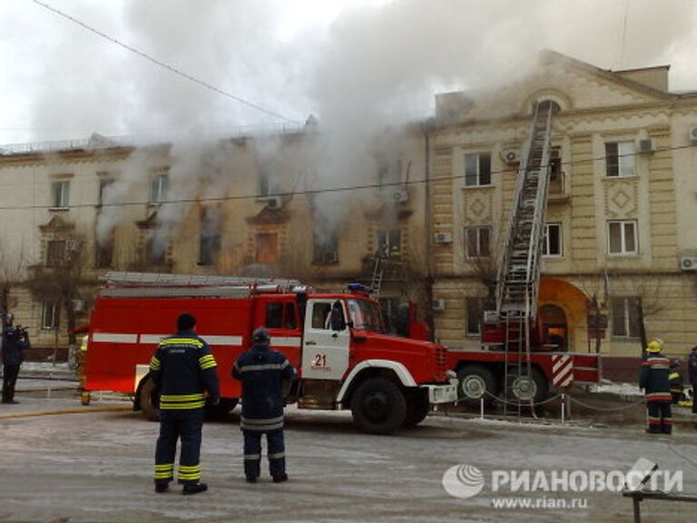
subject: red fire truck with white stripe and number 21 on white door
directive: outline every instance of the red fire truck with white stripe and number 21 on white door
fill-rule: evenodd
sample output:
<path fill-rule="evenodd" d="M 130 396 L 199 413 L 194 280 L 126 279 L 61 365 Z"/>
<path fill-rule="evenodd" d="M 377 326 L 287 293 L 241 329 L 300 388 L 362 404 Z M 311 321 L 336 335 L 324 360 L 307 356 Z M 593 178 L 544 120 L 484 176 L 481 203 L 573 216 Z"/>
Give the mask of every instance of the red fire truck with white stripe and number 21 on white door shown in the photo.
<path fill-rule="evenodd" d="M 301 409 L 350 409 L 358 429 L 388 434 L 456 400 L 447 350 L 386 334 L 378 302 L 358 286 L 317 294 L 298 281 L 134 272 L 104 281 L 90 321 L 84 389 L 133 394 L 147 417 L 157 416 L 148 363 L 184 311 L 197 318 L 196 331 L 218 362 L 219 410 L 229 412 L 241 396 L 231 367 L 259 326 L 298 369 L 288 401 Z"/>

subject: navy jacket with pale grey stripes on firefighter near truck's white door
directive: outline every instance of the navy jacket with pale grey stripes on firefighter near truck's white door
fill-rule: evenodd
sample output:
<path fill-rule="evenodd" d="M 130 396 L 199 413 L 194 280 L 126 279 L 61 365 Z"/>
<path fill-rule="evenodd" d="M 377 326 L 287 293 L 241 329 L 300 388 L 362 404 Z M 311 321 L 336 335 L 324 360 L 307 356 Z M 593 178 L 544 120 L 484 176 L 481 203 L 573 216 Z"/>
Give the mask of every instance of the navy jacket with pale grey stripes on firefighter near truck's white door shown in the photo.
<path fill-rule="evenodd" d="M 242 382 L 241 429 L 270 431 L 283 428 L 281 381 L 292 380 L 295 369 L 268 343 L 242 352 L 232 367 L 232 377 Z"/>

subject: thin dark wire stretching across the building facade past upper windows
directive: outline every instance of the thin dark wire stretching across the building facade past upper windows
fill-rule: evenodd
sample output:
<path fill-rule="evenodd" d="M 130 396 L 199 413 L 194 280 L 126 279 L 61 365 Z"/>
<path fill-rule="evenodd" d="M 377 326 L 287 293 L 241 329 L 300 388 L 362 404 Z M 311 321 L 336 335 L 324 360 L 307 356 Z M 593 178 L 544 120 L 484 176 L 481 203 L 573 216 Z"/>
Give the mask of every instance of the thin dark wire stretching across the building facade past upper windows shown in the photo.
<path fill-rule="evenodd" d="M 697 148 L 697 143 L 695 144 L 690 144 L 690 145 L 675 145 L 672 147 L 659 147 L 656 148 L 654 153 L 661 153 L 661 152 L 666 152 L 666 151 L 680 151 L 683 149 L 693 149 Z M 613 155 L 612 158 L 623 158 L 623 157 L 628 157 L 628 156 L 638 156 L 641 153 L 626 153 L 626 154 L 616 154 Z M 0 155 L 0 158 L 2 158 L 2 155 Z M 574 160 L 573 162 L 562 162 L 562 165 L 579 165 L 579 164 L 584 164 L 584 163 L 594 163 L 598 161 L 602 161 L 607 159 L 608 156 L 596 156 L 594 158 L 589 158 L 587 160 Z M 540 169 L 543 169 L 547 166 L 543 165 L 540 167 Z M 491 171 L 491 174 L 504 174 L 504 173 L 513 173 L 514 170 L 512 169 L 505 169 L 502 171 Z M 315 196 L 318 194 L 324 194 L 324 193 L 331 193 L 331 192 L 350 192 L 350 191 L 363 191 L 367 189 L 386 189 L 388 187 L 405 187 L 407 185 L 420 185 L 423 183 L 437 183 L 437 182 L 447 182 L 447 181 L 453 181 L 453 180 L 461 180 L 463 178 L 466 178 L 466 174 L 454 174 L 452 176 L 438 176 L 437 178 L 430 178 L 429 180 L 409 180 L 407 182 L 389 182 L 389 183 L 362 183 L 358 185 L 344 185 L 344 186 L 339 186 L 339 187 L 326 187 L 323 189 L 306 189 L 304 191 L 290 191 L 290 192 L 274 192 L 270 194 L 260 194 L 260 193 L 255 193 L 255 194 L 234 194 L 234 195 L 227 195 L 227 196 L 215 196 L 215 197 L 207 197 L 207 198 L 198 198 L 198 197 L 192 197 L 192 198 L 177 198 L 177 199 L 172 199 L 172 200 L 163 200 L 161 202 L 106 202 L 106 203 L 76 203 L 73 205 L 68 205 L 67 208 L 69 209 L 80 209 L 80 208 L 85 208 L 85 207 L 99 207 L 99 208 L 107 208 L 107 207 L 126 207 L 126 206 L 133 206 L 133 205 L 147 205 L 147 204 L 152 204 L 152 205 L 165 205 L 168 203 L 196 203 L 196 202 L 231 202 L 231 201 L 240 201 L 240 200 L 268 200 L 269 198 L 273 197 L 292 197 L 292 196 L 299 196 L 299 195 L 307 195 L 307 196 Z M 616 176 L 618 179 L 622 179 L 622 176 Z M 476 185 L 473 185 L 472 187 L 477 187 Z M 486 187 L 486 185 L 484 185 Z M 33 204 L 33 205 L 0 205 L 0 211 L 26 211 L 26 210 L 31 210 L 31 209 L 55 209 L 55 205 L 47 205 L 47 204 Z"/>

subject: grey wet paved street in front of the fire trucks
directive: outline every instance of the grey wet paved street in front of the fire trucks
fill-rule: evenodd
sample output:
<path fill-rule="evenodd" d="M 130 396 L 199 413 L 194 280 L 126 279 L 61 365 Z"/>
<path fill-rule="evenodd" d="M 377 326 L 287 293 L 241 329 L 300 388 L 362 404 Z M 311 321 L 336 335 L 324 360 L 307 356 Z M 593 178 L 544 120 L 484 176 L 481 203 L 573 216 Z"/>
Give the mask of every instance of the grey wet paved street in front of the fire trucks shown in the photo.
<path fill-rule="evenodd" d="M 93 402 L 91 408 L 127 409 Z M 637 429 L 530 427 L 501 421 L 431 417 L 393 437 L 358 434 L 345 413 L 290 410 L 291 480 L 243 481 L 237 416 L 204 427 L 202 468 L 211 490 L 183 497 L 179 488 L 152 492 L 158 425 L 129 410 L 6 418 L 22 412 L 80 409 L 75 400 L 24 399 L 0 409 L 1 521 L 631 521 L 631 502 L 616 493 L 583 493 L 584 509 L 497 509 L 487 483 L 474 498 L 442 486 L 444 472 L 474 465 L 494 469 L 626 470 L 639 457 L 682 469 L 697 492 L 697 433 L 672 439 Z M 671 447 L 672 445 L 672 447 Z M 508 494 L 510 492 L 503 492 Z M 526 493 L 523 493 L 524 495 Z M 568 494 L 532 493 L 529 498 Z M 643 503 L 644 520 L 693 521 L 689 505 Z M 669 516 L 659 516 L 659 510 Z"/>

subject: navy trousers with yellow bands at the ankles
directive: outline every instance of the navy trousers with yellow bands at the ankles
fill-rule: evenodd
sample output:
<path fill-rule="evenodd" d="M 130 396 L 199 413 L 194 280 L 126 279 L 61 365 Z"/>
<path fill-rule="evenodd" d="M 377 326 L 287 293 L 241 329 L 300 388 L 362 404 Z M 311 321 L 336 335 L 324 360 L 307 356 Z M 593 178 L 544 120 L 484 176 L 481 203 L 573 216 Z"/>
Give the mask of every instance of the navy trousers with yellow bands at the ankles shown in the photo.
<path fill-rule="evenodd" d="M 182 439 L 179 456 L 179 483 L 201 480 L 201 426 L 203 409 L 161 410 L 160 437 L 155 448 L 155 483 L 169 483 L 174 477 L 177 439 Z"/>

